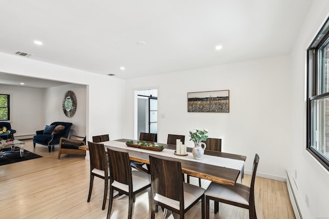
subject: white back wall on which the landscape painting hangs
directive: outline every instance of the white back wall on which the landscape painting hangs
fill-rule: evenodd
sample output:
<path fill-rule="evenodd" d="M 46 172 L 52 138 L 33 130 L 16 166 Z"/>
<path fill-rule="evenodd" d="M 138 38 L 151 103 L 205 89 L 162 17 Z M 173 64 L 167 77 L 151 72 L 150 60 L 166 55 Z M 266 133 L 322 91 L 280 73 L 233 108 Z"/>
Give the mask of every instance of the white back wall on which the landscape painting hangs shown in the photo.
<path fill-rule="evenodd" d="M 224 152 L 247 155 L 246 173 L 258 153 L 259 175 L 284 180 L 290 145 L 289 60 L 287 55 L 127 80 L 125 137 L 133 137 L 134 90 L 158 88 L 158 142 L 167 142 L 168 134 L 184 134 L 192 147 L 189 130 L 207 128 L 209 137 L 222 138 Z M 230 90 L 229 113 L 187 112 L 188 92 L 213 90 Z"/>

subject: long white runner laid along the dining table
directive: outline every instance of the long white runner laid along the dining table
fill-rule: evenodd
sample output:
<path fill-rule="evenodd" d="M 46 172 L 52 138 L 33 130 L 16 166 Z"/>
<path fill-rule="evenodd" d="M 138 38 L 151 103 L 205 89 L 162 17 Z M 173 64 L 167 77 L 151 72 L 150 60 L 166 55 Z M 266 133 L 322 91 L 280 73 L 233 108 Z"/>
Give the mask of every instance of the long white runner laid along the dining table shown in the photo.
<path fill-rule="evenodd" d="M 128 147 L 124 142 L 108 141 L 108 142 L 102 142 L 102 144 L 104 144 L 105 146 L 111 146 L 111 147 L 124 148 L 124 149 L 129 149 L 129 150 L 134 150 L 134 151 L 145 152 L 145 149 Z M 193 158 L 193 155 L 191 152 L 188 152 L 187 156 L 177 156 L 174 154 L 174 150 L 167 149 L 167 148 L 163 149 L 162 151 L 147 150 L 147 153 L 158 154 L 161 156 L 168 156 L 168 157 L 176 157 L 181 160 L 199 162 L 199 163 L 204 163 L 204 164 L 210 164 L 210 165 L 240 170 L 241 179 L 243 178 L 243 175 L 244 175 L 245 162 L 240 161 L 240 160 L 235 160 L 235 159 L 225 158 L 225 157 L 220 157 L 220 156 L 211 156 L 211 155 L 206 155 L 206 154 L 203 156 L 203 158 L 201 160 L 195 160 Z"/>

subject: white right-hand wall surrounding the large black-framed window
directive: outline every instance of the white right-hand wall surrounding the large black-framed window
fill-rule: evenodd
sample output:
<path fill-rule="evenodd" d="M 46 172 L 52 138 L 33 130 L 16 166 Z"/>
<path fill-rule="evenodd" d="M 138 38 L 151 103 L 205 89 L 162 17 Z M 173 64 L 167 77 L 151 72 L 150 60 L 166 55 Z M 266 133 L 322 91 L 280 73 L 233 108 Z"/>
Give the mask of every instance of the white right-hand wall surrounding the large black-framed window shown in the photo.
<path fill-rule="evenodd" d="M 329 218 L 329 172 L 306 151 L 306 49 L 329 11 L 328 1 L 313 1 L 291 53 L 291 165 L 287 168 L 298 190 L 295 194 L 304 218 Z M 295 177 L 297 171 L 297 178 Z M 305 195 L 309 197 L 309 207 Z"/>

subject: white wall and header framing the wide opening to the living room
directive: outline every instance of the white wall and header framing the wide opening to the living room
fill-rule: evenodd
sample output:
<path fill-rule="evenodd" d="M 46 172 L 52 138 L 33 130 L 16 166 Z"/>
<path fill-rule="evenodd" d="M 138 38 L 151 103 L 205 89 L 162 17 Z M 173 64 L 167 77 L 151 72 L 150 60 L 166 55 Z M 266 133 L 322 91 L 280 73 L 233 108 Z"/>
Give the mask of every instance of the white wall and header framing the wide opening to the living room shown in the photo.
<path fill-rule="evenodd" d="M 5 53 L 0 53 L 0 60 L 0 72 L 87 85 L 87 139 L 92 140 L 93 135 L 102 133 L 109 133 L 111 139 L 122 137 L 124 80 Z"/>

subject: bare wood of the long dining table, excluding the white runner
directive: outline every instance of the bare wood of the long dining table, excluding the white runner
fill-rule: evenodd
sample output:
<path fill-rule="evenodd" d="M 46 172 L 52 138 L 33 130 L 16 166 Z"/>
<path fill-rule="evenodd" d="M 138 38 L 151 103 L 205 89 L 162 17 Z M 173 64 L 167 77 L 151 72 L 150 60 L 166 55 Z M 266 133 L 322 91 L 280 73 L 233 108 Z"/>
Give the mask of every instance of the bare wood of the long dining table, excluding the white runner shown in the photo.
<path fill-rule="evenodd" d="M 123 142 L 123 143 L 125 143 L 127 141 L 136 142 L 136 140 L 130 140 L 130 139 L 126 139 L 126 138 L 122 138 L 122 139 L 114 140 L 114 141 Z M 105 149 L 110 148 L 110 149 L 114 149 L 114 150 L 128 152 L 131 161 L 150 164 L 149 155 L 165 158 L 168 160 L 180 161 L 182 173 L 186 173 L 191 176 L 196 176 L 199 178 L 204 178 L 205 180 L 209 180 L 209 181 L 212 181 L 215 183 L 234 186 L 237 178 L 240 175 L 240 170 L 238 170 L 238 169 L 231 169 L 231 168 L 227 168 L 227 167 L 223 167 L 223 166 L 205 164 L 205 163 L 194 162 L 194 161 L 189 161 L 189 160 L 183 160 L 179 156 L 174 155 L 174 153 L 173 153 L 172 157 L 168 157 L 168 156 L 161 156 L 161 152 L 159 152 L 157 154 L 151 154 L 151 153 L 148 153 L 149 152 L 148 150 L 136 151 L 136 150 L 132 150 L 130 147 L 124 147 L 124 148 L 113 147 L 113 146 L 111 146 L 111 142 L 112 141 L 102 142 L 102 144 L 104 144 Z M 162 143 L 155 143 L 155 144 L 161 145 L 166 149 L 170 149 L 173 151 L 176 150 L 176 145 L 169 145 L 169 144 L 162 144 Z M 81 146 L 80 149 L 88 150 L 88 146 Z M 192 148 L 188 147 L 187 152 L 191 152 L 191 151 L 192 151 Z M 205 150 L 205 154 L 215 156 L 215 157 L 230 158 L 233 160 L 238 160 L 238 161 L 243 161 L 243 162 L 245 162 L 245 160 L 246 160 L 246 156 L 243 156 L 243 155 L 224 153 L 224 152 L 218 152 L 218 151 Z"/>

